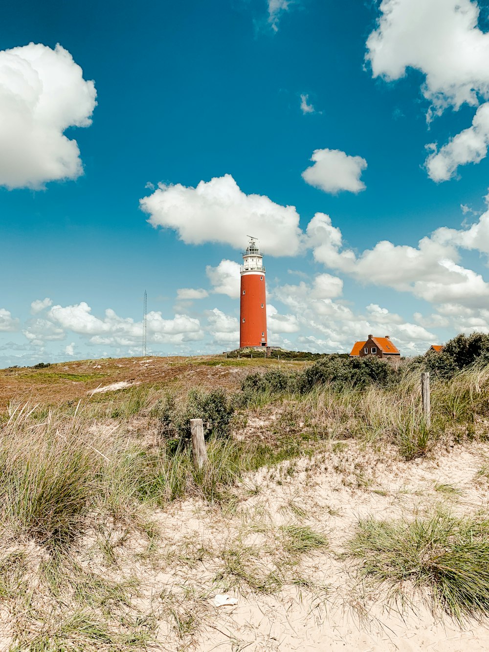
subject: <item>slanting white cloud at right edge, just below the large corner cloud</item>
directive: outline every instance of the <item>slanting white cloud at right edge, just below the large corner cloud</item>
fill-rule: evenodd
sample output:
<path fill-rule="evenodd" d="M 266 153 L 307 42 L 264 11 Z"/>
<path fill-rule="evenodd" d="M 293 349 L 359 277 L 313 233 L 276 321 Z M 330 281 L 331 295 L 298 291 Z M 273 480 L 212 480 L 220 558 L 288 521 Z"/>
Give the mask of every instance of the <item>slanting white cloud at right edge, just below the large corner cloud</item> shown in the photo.
<path fill-rule="evenodd" d="M 489 61 L 488 61 L 489 65 Z M 489 102 L 482 104 L 472 121 L 472 126 L 460 132 L 426 159 L 428 176 L 433 181 L 447 181 L 459 165 L 479 163 L 487 156 L 489 145 Z M 436 147 L 436 145 L 435 145 Z"/>

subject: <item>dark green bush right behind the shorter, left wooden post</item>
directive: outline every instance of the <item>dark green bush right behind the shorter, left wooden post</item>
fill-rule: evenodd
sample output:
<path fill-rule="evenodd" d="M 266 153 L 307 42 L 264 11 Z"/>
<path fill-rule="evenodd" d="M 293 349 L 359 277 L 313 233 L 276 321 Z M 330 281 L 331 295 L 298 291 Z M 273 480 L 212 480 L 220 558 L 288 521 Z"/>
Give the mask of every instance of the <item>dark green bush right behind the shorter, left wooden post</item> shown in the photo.
<path fill-rule="evenodd" d="M 160 433 L 168 441 L 172 451 L 190 443 L 190 419 L 202 419 L 205 439 L 211 434 L 227 437 L 233 416 L 233 405 L 222 389 L 201 392 L 192 389 L 186 400 L 177 404 L 174 396 L 166 396 L 156 406 L 160 421 Z"/>

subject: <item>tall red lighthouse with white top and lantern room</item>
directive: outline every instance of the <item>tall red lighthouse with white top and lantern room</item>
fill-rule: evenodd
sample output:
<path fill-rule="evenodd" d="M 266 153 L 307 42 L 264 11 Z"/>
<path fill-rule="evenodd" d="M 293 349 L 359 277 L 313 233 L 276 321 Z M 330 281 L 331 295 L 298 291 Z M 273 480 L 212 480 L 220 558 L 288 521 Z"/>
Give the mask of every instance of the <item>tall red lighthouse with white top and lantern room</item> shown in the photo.
<path fill-rule="evenodd" d="M 265 301 L 265 267 L 256 238 L 243 252 L 241 265 L 241 310 L 239 346 L 267 346 L 267 305 Z"/>

